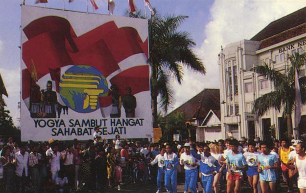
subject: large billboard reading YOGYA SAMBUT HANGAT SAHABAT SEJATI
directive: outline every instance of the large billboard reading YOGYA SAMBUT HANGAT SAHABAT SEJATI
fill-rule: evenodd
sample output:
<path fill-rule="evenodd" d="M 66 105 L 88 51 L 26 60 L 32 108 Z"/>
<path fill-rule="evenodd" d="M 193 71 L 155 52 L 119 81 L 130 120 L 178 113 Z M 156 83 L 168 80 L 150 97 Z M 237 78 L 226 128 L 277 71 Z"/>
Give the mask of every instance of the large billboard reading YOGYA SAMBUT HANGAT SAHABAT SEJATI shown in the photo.
<path fill-rule="evenodd" d="M 22 6 L 23 141 L 153 137 L 147 21 Z"/>

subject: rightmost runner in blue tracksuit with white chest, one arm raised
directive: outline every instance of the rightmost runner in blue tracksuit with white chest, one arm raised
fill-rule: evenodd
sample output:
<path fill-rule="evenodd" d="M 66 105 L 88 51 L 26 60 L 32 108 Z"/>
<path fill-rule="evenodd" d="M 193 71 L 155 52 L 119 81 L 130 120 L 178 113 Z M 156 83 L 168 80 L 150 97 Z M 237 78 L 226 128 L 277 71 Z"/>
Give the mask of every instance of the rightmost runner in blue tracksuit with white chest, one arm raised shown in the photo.
<path fill-rule="evenodd" d="M 212 193 L 212 183 L 214 175 L 219 172 L 220 165 L 218 160 L 212 157 L 210 153 L 210 148 L 207 145 L 203 145 L 203 151 L 197 154 L 193 149 L 191 149 L 191 155 L 196 159 L 200 159 L 200 172 L 202 174 L 202 184 L 205 193 Z"/>

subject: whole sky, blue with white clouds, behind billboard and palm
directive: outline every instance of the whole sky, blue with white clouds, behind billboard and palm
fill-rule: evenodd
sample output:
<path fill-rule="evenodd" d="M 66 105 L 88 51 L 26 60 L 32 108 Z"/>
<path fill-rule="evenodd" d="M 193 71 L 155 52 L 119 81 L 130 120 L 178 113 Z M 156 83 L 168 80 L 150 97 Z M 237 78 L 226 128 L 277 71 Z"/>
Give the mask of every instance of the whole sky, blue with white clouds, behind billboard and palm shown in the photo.
<path fill-rule="evenodd" d="M 21 1 L 3 0 L 0 4 L 0 74 L 8 92 L 3 96 L 15 125 L 18 125 L 20 101 L 21 63 Z M 63 9 L 63 0 L 48 0 L 46 7 Z M 87 11 L 87 0 L 65 0 L 65 9 Z M 95 0 L 99 9 L 94 13 L 109 14 L 108 0 Z M 114 15 L 123 16 L 128 9 L 127 0 L 114 0 Z M 144 0 L 134 0 L 144 12 Z M 26 5 L 35 0 L 25 0 Z M 179 85 L 175 79 L 171 86 L 175 101 L 169 112 L 181 106 L 205 88 L 219 88 L 218 53 L 226 46 L 240 40 L 249 40 L 270 22 L 282 18 L 306 6 L 305 0 L 150 0 L 162 16 L 185 15 L 188 19 L 179 30 L 187 31 L 196 43 L 192 49 L 206 67 L 206 75 L 184 69 L 184 80 Z M 90 4 L 89 4 L 90 5 Z M 89 12 L 93 12 L 91 6 Z M 147 15 L 149 10 L 147 9 Z M 148 16 L 149 17 L 149 16 Z"/>

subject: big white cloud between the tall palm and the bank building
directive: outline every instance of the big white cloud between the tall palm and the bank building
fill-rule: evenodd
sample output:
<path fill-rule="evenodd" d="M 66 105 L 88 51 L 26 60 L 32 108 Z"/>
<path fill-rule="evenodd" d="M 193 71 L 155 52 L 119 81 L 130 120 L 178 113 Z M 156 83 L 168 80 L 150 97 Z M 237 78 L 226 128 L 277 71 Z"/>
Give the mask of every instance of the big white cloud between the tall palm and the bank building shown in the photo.
<path fill-rule="evenodd" d="M 270 22 L 280 19 L 302 7 L 305 1 L 233 1 L 216 0 L 211 7 L 212 20 L 205 26 L 206 39 L 194 52 L 203 60 L 205 76 L 185 71 L 181 86 L 173 83 L 176 102 L 179 107 L 204 88 L 219 87 L 218 53 L 221 45 L 226 46 L 244 39 L 251 39 Z M 192 33 L 192 32 L 191 32 Z"/>

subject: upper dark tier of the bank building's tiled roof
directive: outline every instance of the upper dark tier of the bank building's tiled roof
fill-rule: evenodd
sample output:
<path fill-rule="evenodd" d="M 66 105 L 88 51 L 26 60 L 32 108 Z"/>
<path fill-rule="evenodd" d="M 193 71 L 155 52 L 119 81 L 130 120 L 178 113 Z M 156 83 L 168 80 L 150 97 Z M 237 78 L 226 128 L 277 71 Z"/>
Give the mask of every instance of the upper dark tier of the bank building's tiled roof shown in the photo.
<path fill-rule="evenodd" d="M 267 38 L 280 34 L 286 30 L 297 27 L 304 23 L 306 23 L 306 7 L 287 16 L 284 16 L 279 20 L 271 22 L 251 40 L 263 41 Z"/>

